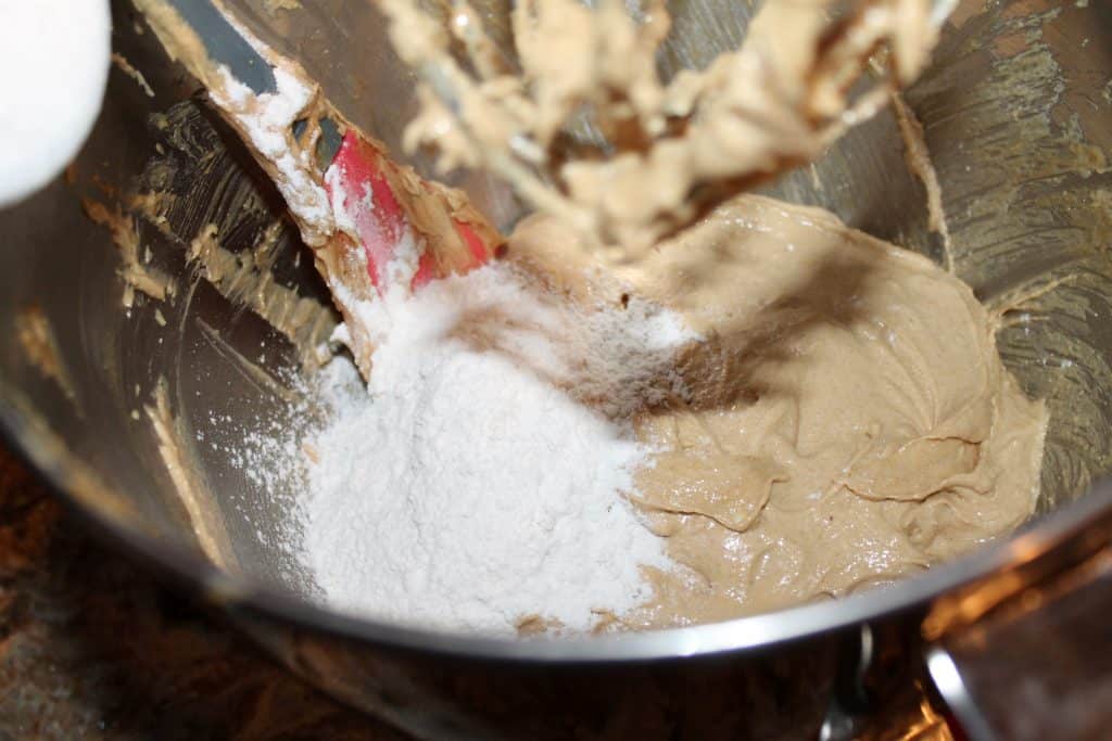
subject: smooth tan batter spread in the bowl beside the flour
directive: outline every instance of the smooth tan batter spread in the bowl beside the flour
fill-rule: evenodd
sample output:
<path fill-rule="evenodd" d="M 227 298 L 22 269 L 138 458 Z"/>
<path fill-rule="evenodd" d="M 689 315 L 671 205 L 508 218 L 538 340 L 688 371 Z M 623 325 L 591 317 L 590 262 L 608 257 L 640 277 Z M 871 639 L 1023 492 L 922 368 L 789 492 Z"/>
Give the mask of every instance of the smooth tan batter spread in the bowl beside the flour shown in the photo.
<path fill-rule="evenodd" d="M 703 336 L 683 390 L 635 417 L 633 500 L 684 568 L 627 628 L 707 622 L 892 581 L 1033 511 L 1046 412 L 996 352 L 999 317 L 929 260 L 832 214 L 745 196 L 600 278 L 534 218 L 512 259 L 580 301 L 631 294 Z"/>

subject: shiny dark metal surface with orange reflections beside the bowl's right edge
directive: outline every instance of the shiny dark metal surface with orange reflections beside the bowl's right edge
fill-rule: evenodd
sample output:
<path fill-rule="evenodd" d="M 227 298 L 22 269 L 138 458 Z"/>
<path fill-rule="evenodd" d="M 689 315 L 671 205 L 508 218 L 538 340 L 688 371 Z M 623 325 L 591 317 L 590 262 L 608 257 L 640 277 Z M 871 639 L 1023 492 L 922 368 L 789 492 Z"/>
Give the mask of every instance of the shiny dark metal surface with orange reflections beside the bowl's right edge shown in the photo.
<path fill-rule="evenodd" d="M 1094 512 L 1052 558 L 1019 559 L 935 600 L 926 671 L 972 741 L 1103 738 L 1110 609 L 1112 518 Z"/>

